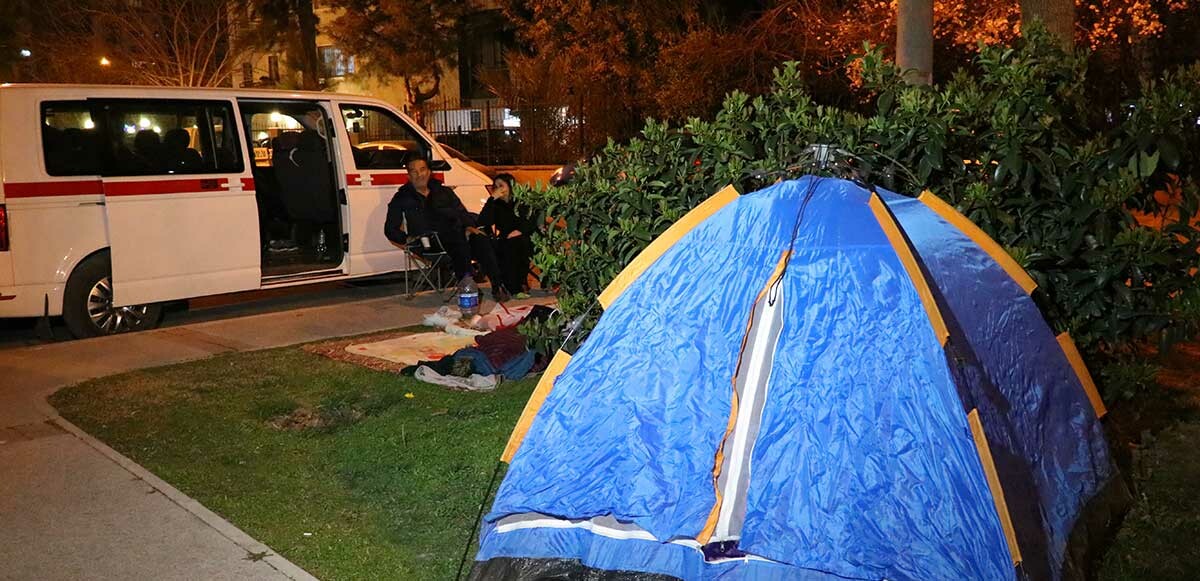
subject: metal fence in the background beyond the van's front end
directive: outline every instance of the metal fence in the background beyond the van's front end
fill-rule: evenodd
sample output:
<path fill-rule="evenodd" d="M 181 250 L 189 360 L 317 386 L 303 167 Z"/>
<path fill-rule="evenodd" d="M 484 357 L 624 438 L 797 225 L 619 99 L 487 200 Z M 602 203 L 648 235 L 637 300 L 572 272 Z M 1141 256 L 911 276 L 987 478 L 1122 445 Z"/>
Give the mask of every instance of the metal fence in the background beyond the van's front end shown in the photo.
<path fill-rule="evenodd" d="M 433 101 L 419 109 L 419 119 L 439 143 L 490 166 L 562 164 L 586 157 L 595 145 L 582 103 Z"/>

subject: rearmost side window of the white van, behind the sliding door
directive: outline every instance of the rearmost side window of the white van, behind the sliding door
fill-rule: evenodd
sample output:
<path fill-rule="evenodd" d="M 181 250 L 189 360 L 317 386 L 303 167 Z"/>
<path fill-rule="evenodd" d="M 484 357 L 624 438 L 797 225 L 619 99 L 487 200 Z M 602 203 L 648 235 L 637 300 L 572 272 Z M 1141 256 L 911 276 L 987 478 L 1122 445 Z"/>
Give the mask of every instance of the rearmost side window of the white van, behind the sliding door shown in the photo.
<path fill-rule="evenodd" d="M 42 103 L 42 158 L 47 174 L 100 174 L 96 136 L 86 101 Z"/>

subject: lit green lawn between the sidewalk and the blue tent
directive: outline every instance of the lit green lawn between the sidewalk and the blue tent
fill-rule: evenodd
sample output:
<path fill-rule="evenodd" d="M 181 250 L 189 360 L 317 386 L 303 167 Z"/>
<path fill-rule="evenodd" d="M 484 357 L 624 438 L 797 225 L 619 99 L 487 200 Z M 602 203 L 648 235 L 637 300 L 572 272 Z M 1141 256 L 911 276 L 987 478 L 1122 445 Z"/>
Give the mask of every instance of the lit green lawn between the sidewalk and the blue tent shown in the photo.
<path fill-rule="evenodd" d="M 534 384 L 455 393 L 283 348 L 96 379 L 52 403 L 318 577 L 451 579 Z M 298 408 L 323 423 L 271 425 Z"/>

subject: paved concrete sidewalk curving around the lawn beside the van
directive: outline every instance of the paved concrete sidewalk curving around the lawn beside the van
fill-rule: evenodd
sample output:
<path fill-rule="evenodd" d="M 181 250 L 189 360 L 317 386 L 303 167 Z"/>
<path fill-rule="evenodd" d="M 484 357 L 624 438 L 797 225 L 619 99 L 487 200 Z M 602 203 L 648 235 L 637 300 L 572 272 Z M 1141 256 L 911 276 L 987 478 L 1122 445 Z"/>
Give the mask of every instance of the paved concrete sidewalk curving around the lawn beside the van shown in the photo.
<path fill-rule="evenodd" d="M 0 580 L 313 579 L 46 397 L 131 370 L 419 324 L 442 303 L 389 297 L 0 351 Z"/>

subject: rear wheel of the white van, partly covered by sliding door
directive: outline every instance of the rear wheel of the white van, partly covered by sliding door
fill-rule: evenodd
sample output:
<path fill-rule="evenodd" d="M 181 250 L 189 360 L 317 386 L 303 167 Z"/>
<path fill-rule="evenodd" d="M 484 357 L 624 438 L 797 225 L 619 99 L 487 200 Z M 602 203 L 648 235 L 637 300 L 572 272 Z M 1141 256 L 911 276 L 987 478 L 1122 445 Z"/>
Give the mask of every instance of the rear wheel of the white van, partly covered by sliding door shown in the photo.
<path fill-rule="evenodd" d="M 113 306 L 113 263 L 108 252 L 88 258 L 67 280 L 62 319 L 76 339 L 158 327 L 162 305 Z"/>

